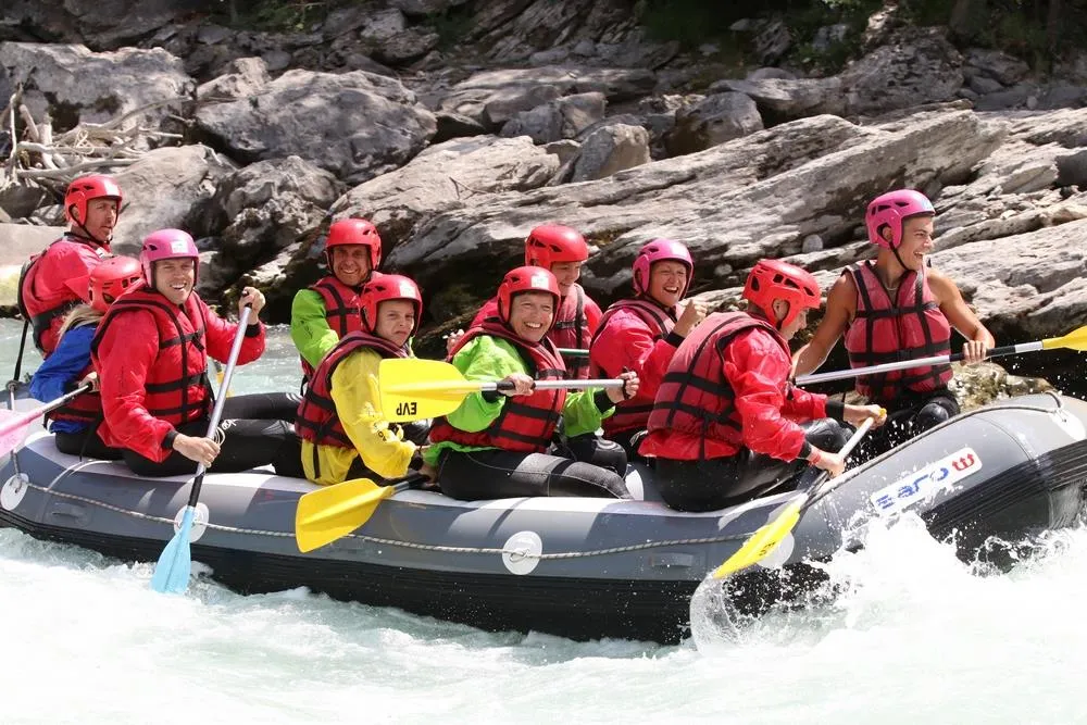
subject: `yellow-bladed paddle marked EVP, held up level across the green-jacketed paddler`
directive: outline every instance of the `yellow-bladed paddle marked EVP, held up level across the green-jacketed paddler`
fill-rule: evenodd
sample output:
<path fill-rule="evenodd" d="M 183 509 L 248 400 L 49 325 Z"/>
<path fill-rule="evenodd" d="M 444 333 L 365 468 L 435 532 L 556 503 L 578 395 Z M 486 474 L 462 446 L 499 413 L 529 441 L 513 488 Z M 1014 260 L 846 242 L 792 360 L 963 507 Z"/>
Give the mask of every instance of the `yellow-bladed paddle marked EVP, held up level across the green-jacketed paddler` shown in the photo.
<path fill-rule="evenodd" d="M 390 423 L 452 413 L 464 397 L 485 390 L 512 390 L 509 380 L 468 380 L 451 363 L 418 358 L 388 358 L 378 367 L 382 415 Z M 538 390 L 619 388 L 625 380 L 539 380 Z"/>

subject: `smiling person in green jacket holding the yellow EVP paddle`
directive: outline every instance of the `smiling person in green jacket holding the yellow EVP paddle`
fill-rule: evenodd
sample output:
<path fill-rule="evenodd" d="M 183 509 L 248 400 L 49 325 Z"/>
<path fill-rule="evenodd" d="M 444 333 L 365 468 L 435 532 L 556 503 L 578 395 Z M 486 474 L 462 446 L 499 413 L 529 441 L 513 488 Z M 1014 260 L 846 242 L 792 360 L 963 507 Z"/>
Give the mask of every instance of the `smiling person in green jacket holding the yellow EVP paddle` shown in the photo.
<path fill-rule="evenodd" d="M 554 275 L 523 266 L 498 288 L 498 318 L 471 328 L 452 363 L 472 380 L 503 379 L 511 389 L 474 392 L 438 418 L 423 454 L 447 496 L 462 500 L 521 496 L 594 496 L 626 499 L 626 452 L 589 438 L 573 458 L 551 446 L 559 418 L 570 437 L 600 427 L 615 403 L 633 397 L 638 376 L 624 373 L 622 388 L 538 390 L 536 380 L 563 379 L 565 365 L 547 333 L 561 296 Z"/>

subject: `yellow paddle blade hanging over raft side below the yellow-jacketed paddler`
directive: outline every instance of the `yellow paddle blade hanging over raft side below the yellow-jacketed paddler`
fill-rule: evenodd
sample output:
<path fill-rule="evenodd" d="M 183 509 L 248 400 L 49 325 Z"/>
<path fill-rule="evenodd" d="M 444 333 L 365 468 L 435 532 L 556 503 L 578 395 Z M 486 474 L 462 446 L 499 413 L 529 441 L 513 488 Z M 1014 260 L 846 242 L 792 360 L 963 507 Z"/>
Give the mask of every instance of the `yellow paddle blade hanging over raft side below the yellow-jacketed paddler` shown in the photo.
<path fill-rule="evenodd" d="M 370 521 L 382 501 L 426 480 L 426 476 L 413 471 L 385 485 L 370 478 L 352 478 L 305 493 L 298 500 L 295 511 L 298 550 L 313 551 L 347 536 Z"/>

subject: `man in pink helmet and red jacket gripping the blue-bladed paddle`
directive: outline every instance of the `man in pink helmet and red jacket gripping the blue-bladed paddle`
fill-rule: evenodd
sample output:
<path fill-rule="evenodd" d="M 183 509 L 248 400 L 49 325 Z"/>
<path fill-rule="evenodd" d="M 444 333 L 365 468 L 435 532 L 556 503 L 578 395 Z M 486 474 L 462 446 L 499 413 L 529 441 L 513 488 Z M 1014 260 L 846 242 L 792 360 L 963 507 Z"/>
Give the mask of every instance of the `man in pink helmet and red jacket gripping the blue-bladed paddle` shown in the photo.
<path fill-rule="evenodd" d="M 212 409 L 208 357 L 226 361 L 237 324 L 211 311 L 193 291 L 200 255 L 187 233 L 160 229 L 143 239 L 141 279 L 110 307 L 91 342 L 104 421 L 99 435 L 141 476 L 245 471 L 274 463 L 300 475 L 293 429 L 298 401 L 286 393 L 234 396 L 223 409 L 222 435 L 207 437 Z M 258 314 L 264 296 L 242 290 L 252 307 L 238 364 L 264 351 Z"/>

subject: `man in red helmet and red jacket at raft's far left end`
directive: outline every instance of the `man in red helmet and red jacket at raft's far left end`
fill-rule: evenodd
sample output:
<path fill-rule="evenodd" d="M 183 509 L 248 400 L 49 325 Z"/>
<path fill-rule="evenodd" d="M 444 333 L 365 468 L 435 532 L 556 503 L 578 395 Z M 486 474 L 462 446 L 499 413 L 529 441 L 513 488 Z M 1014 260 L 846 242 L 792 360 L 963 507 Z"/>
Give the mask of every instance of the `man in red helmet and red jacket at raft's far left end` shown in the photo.
<path fill-rule="evenodd" d="M 34 327 L 34 345 L 43 358 L 57 349 L 64 315 L 76 304 L 90 302 L 90 272 L 110 255 L 121 202 L 121 187 L 111 176 L 73 180 L 64 195 L 67 233 L 32 258 L 23 272 L 20 308 Z"/>

